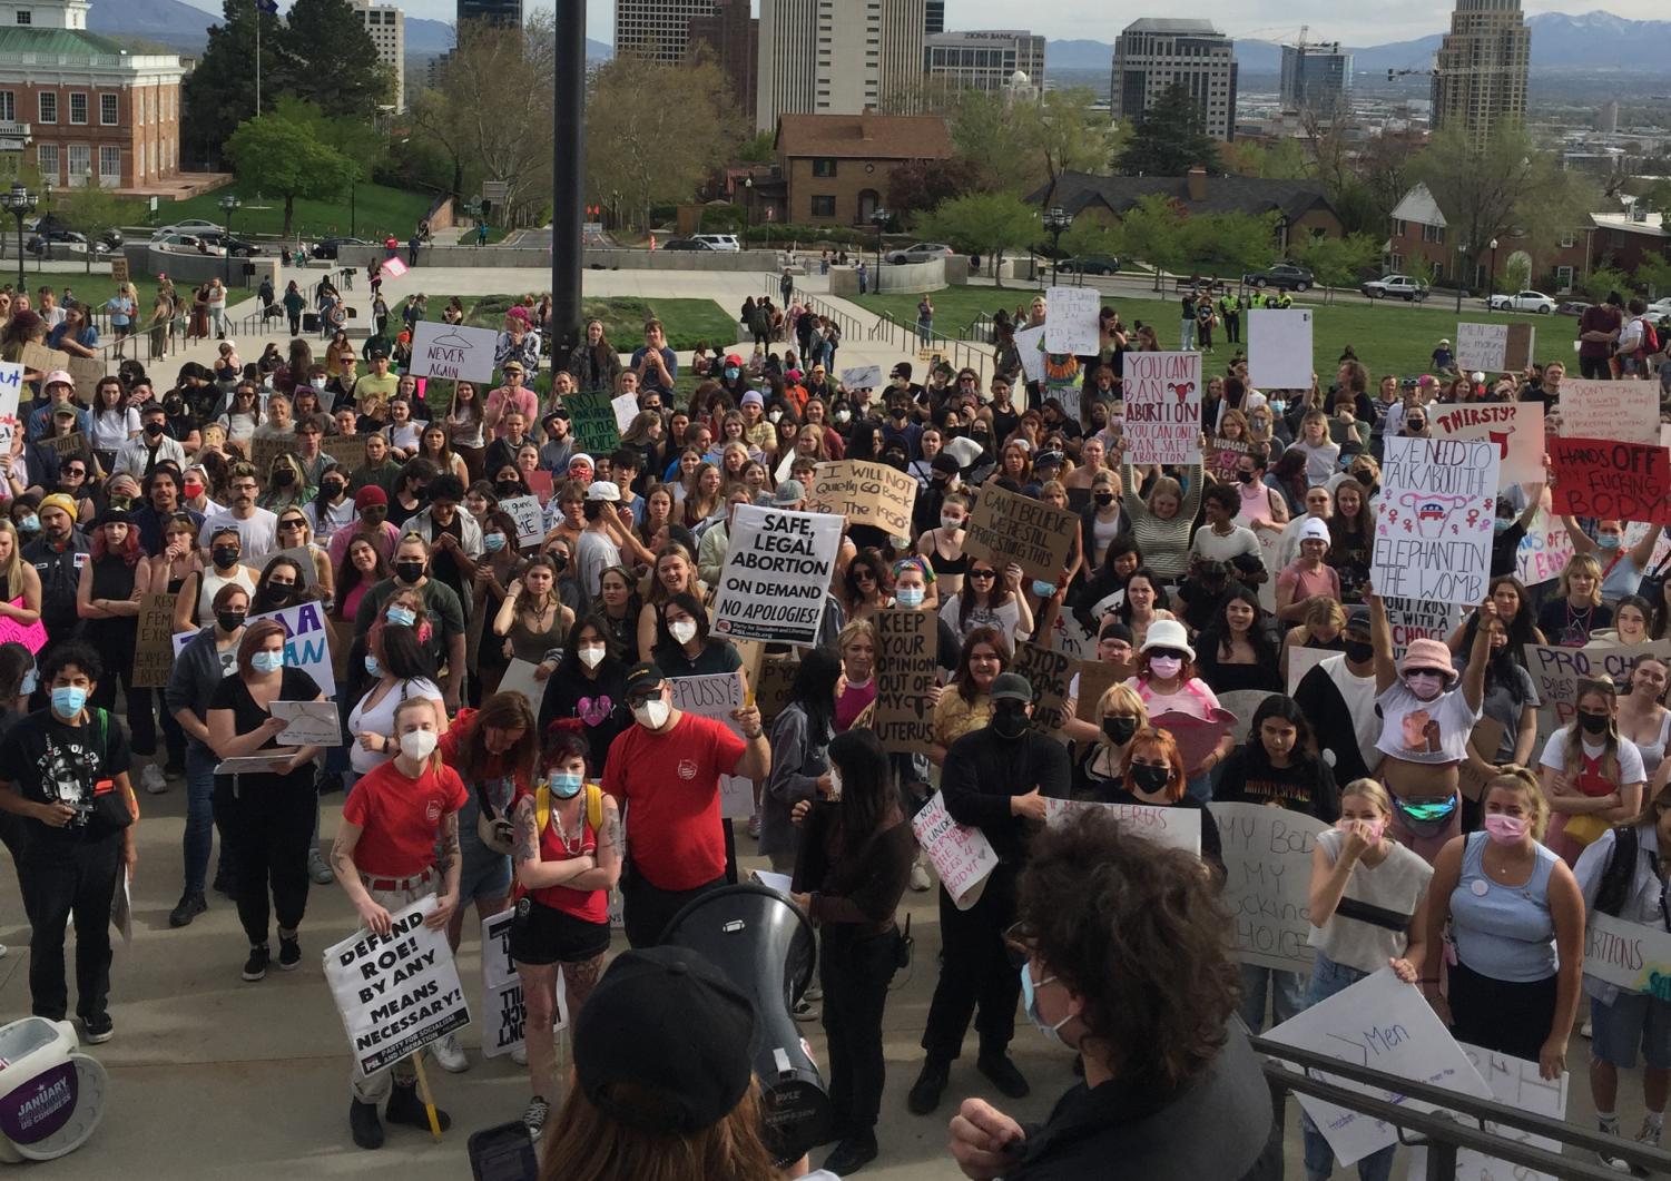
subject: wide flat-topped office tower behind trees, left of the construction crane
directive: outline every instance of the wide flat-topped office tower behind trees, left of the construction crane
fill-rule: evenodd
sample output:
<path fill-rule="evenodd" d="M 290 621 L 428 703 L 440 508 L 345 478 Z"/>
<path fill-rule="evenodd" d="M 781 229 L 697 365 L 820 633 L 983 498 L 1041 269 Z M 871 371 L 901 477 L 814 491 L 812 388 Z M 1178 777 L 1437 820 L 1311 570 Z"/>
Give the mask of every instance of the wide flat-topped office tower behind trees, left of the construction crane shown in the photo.
<path fill-rule="evenodd" d="M 1126 25 L 1115 40 L 1115 119 L 1138 119 L 1173 82 L 1200 104 L 1208 135 L 1235 139 L 1235 42 L 1210 20 L 1143 17 Z"/>

